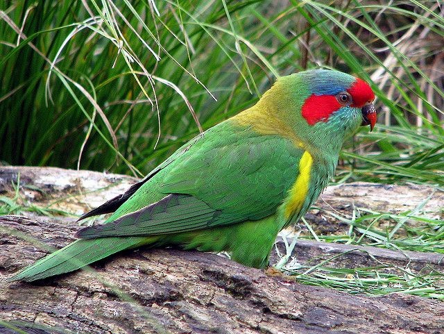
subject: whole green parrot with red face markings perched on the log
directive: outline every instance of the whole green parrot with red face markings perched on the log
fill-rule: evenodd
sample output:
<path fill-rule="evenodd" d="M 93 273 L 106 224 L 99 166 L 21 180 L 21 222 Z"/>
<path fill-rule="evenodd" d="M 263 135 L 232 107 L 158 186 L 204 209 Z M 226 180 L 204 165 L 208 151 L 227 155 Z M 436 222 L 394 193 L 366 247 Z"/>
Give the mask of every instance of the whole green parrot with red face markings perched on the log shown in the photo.
<path fill-rule="evenodd" d="M 345 137 L 376 122 L 368 83 L 313 69 L 278 78 L 247 110 L 178 149 L 124 194 L 80 217 L 104 224 L 26 267 L 11 281 L 72 272 L 148 245 L 226 251 L 264 268 L 279 231 L 295 223 L 334 174 Z M 79 219 L 79 220 L 80 220 Z"/>

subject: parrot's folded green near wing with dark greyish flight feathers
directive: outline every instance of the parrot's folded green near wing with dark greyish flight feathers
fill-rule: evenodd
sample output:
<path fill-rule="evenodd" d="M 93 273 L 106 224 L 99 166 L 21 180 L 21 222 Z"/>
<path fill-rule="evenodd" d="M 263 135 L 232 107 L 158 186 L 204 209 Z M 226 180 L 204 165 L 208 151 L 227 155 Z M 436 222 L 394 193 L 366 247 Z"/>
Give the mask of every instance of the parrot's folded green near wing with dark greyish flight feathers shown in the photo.
<path fill-rule="evenodd" d="M 159 235 L 272 215 L 298 176 L 302 149 L 219 124 L 166 160 L 108 219 L 77 236 Z M 152 174 L 152 173 L 151 173 Z"/>

